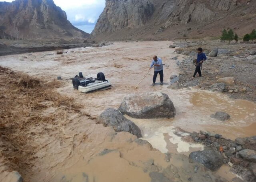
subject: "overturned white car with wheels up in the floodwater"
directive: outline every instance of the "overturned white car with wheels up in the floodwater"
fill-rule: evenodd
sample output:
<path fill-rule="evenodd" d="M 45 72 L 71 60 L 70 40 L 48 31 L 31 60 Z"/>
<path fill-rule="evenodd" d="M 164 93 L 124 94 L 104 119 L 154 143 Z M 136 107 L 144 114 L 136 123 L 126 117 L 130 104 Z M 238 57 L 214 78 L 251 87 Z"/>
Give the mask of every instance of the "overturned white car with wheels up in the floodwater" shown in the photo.
<path fill-rule="evenodd" d="M 97 78 L 86 78 L 82 72 L 72 78 L 72 84 L 74 89 L 79 90 L 81 93 L 90 93 L 98 90 L 106 90 L 111 88 L 111 83 L 106 80 L 105 75 L 102 72 L 97 74 Z"/>

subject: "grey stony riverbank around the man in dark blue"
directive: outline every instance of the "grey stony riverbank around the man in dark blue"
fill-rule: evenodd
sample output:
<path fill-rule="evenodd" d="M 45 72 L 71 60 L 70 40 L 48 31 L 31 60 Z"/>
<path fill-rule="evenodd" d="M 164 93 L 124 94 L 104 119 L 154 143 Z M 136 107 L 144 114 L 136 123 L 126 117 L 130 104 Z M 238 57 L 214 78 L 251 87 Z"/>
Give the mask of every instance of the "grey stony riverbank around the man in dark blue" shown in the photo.
<path fill-rule="evenodd" d="M 170 88 L 198 86 L 203 90 L 224 92 L 231 98 L 256 102 L 256 45 L 230 44 L 222 41 L 176 41 L 176 64 L 180 74 L 171 77 Z M 192 78 L 196 49 L 202 47 L 208 57 L 202 76 Z M 197 75 L 198 76 L 198 75 Z"/>

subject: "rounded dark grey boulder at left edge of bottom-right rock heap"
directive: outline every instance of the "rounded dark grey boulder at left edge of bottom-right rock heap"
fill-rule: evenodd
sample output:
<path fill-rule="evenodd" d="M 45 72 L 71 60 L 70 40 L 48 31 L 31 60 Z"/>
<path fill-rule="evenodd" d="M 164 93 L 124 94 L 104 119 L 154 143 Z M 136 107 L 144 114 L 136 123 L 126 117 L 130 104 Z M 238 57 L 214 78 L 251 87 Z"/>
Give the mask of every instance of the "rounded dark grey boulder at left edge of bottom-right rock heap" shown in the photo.
<path fill-rule="evenodd" d="M 203 164 L 206 168 L 216 171 L 222 166 L 223 159 L 220 153 L 214 150 L 204 150 L 190 153 L 189 162 L 198 162 Z"/>

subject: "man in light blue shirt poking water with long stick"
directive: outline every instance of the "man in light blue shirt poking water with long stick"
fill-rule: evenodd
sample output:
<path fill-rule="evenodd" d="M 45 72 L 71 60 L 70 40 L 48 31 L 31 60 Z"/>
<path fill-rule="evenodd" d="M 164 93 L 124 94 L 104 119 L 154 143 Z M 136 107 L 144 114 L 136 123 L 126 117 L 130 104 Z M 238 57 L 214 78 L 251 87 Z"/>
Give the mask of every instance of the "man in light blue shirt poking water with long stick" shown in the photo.
<path fill-rule="evenodd" d="M 157 56 L 153 57 L 152 63 L 150 65 L 150 69 L 154 66 L 154 77 L 153 77 L 153 84 L 152 86 L 155 85 L 156 83 L 156 77 L 159 74 L 160 75 L 160 85 L 163 85 L 164 82 L 164 67 L 162 63 L 162 59 L 158 58 Z"/>

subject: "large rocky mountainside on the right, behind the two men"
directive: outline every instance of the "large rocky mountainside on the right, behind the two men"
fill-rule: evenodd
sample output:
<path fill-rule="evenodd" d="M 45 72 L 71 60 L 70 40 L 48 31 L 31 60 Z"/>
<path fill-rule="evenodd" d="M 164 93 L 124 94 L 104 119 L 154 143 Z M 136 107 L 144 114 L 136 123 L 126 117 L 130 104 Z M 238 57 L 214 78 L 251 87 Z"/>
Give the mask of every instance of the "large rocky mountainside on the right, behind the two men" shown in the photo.
<path fill-rule="evenodd" d="M 174 35 L 175 29 L 180 34 L 177 37 L 182 37 L 185 33 L 196 34 L 196 28 L 210 29 L 207 33 L 214 34 L 232 27 L 234 20 L 243 22 L 246 16 L 255 20 L 255 8 L 252 0 L 106 0 L 91 36 L 159 37 L 164 32 Z M 236 25 L 241 32 L 246 27 L 239 22 Z M 192 31 L 185 31 L 188 29 Z"/>

